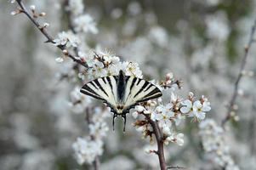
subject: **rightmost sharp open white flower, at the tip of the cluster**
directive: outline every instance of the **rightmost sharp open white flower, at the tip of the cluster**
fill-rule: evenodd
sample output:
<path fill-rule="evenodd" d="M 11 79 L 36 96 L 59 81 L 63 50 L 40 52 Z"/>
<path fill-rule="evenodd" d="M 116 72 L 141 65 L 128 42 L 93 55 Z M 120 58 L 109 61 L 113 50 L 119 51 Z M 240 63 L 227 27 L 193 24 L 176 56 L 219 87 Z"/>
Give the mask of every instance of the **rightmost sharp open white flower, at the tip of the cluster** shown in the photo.
<path fill-rule="evenodd" d="M 199 100 L 196 100 L 193 104 L 193 114 L 198 118 L 199 120 L 202 120 L 205 118 L 206 111 L 210 111 L 210 103 L 209 102 L 201 102 Z"/>

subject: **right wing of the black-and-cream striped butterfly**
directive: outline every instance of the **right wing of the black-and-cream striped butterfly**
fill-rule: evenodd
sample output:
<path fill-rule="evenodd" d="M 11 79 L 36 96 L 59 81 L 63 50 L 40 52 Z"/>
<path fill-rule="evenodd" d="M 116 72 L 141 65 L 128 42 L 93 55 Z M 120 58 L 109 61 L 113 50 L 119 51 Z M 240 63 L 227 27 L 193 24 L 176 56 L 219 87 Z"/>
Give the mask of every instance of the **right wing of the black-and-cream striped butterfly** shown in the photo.
<path fill-rule="evenodd" d="M 128 112 L 139 102 L 156 99 L 162 92 L 156 85 L 137 77 L 127 77 L 125 95 L 123 98 L 124 110 Z"/>

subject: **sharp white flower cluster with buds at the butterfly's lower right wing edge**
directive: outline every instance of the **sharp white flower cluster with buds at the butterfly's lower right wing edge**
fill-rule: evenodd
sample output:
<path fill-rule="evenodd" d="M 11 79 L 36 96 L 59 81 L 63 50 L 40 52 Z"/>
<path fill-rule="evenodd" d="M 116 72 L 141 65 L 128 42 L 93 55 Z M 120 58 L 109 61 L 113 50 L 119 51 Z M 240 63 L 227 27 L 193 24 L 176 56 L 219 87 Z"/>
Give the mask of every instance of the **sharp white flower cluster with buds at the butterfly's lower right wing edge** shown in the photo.
<path fill-rule="evenodd" d="M 163 87 L 171 84 L 171 77 L 171 74 L 167 75 L 166 81 L 162 82 Z M 173 80 L 173 82 L 175 81 Z M 184 134 L 175 132 L 174 126 L 179 126 L 185 117 L 192 116 L 195 121 L 203 120 L 206 112 L 210 110 L 210 103 L 204 96 L 196 100 L 194 94 L 190 93 L 188 99 L 181 99 L 172 92 L 170 102 L 167 104 L 162 104 L 162 99 L 158 99 L 157 102 L 150 100 L 136 106 L 133 116 L 137 117 L 142 114 L 149 119 L 146 121 L 138 120 L 134 122 L 134 126 L 143 133 L 143 137 L 150 137 L 152 141 L 153 130 L 150 124 L 151 121 L 157 122 L 162 132 L 164 144 L 172 142 L 182 145 L 184 144 Z"/>

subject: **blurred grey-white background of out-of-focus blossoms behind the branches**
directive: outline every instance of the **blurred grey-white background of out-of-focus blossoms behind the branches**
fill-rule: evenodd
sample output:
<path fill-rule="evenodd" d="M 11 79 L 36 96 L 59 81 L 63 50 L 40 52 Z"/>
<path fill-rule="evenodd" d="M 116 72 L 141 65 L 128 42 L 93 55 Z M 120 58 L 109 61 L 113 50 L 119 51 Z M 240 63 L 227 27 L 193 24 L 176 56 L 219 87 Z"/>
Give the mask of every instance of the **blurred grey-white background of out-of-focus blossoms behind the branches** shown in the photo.
<path fill-rule="evenodd" d="M 47 13 L 43 20 L 54 37 L 68 30 L 64 0 L 24 2 Z M 177 93 L 207 96 L 212 105 L 207 117 L 220 124 L 256 17 L 255 0 L 86 0 L 84 6 L 99 30 L 88 35 L 90 48 L 100 44 L 123 60 L 137 62 L 149 79 L 173 72 L 184 82 Z M 88 131 L 84 115 L 68 107 L 73 84 L 60 79 L 72 61 L 56 63 L 60 51 L 43 43 L 45 38 L 25 15 L 10 15 L 16 7 L 0 2 L 0 169 L 90 169 L 77 164 L 71 147 Z M 241 169 L 256 169 L 255 47 L 236 100 L 239 117 L 228 123 L 225 133 L 230 155 Z M 111 129 L 111 116 L 107 122 Z M 158 169 L 156 156 L 144 152 L 149 141 L 141 139 L 133 122 L 128 116 L 124 134 L 122 128 L 107 132 L 100 169 Z M 185 144 L 165 148 L 168 164 L 220 169 L 202 150 L 195 123 L 183 122 L 179 131 L 185 133 Z"/>

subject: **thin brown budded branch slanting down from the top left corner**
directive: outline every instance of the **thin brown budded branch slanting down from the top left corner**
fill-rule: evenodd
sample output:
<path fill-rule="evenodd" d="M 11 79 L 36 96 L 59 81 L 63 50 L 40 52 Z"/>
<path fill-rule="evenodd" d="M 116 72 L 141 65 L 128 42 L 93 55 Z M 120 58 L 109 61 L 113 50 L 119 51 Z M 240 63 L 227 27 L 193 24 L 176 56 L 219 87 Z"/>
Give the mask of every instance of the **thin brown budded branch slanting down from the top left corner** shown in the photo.
<path fill-rule="evenodd" d="M 48 34 L 48 31 L 46 30 L 45 27 L 41 26 L 39 24 L 39 22 L 37 21 L 37 19 L 35 19 L 29 12 L 28 10 L 26 9 L 24 3 L 22 3 L 22 0 L 16 0 L 16 2 L 19 4 L 20 6 L 20 12 L 23 13 L 23 14 L 26 14 L 26 16 L 29 18 L 29 20 L 31 20 L 31 22 L 33 23 L 33 25 L 37 26 L 37 29 L 39 31 L 41 31 L 43 33 L 43 36 L 47 38 L 47 41 L 46 42 L 51 42 L 51 43 L 55 43 L 54 42 L 54 38 L 52 36 L 50 36 Z M 66 50 L 66 47 L 65 45 L 64 46 L 61 46 L 61 45 L 58 45 L 56 46 L 58 48 L 60 48 L 62 51 L 63 50 Z M 80 59 L 76 59 L 76 57 L 74 57 L 72 54 L 66 54 L 66 56 L 68 56 L 69 58 L 71 58 L 74 62 L 77 62 L 77 64 L 79 65 L 82 65 L 83 67 L 86 67 L 88 68 L 88 65 L 84 62 L 82 62 L 82 60 Z"/>

